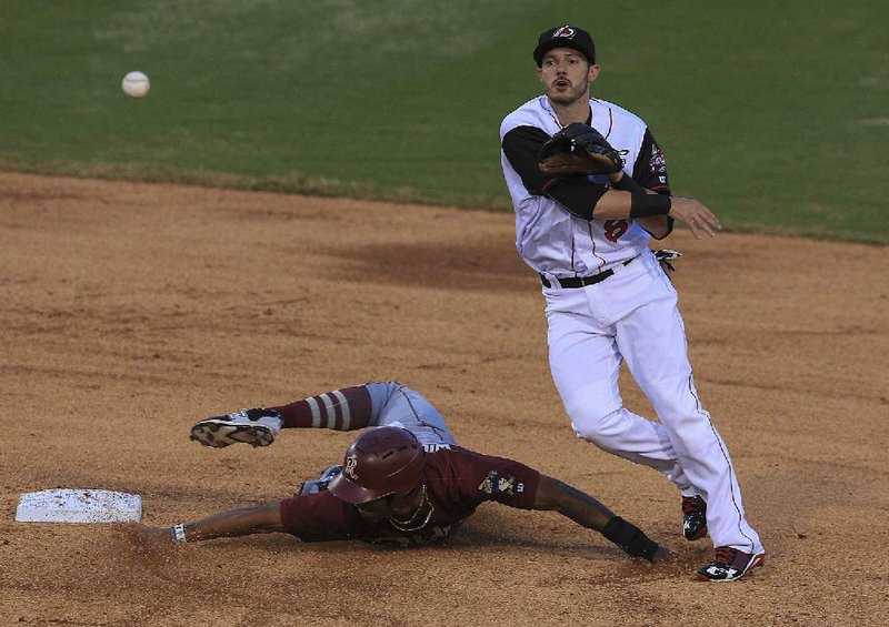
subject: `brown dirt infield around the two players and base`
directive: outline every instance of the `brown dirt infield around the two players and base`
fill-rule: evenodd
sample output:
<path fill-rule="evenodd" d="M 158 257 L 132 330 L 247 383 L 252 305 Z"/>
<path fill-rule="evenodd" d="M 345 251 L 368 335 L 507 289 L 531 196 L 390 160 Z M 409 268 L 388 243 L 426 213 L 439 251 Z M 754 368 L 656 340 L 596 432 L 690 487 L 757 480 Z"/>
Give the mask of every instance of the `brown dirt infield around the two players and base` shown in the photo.
<path fill-rule="evenodd" d="M 711 548 L 681 537 L 673 488 L 575 438 L 513 237 L 507 214 L 0 173 L 0 624 L 883 625 L 889 250 L 671 239 L 698 388 L 768 553 L 712 585 L 692 580 Z M 157 552 L 126 525 L 14 522 L 48 487 L 141 494 L 159 526 L 288 495 L 352 436 L 214 451 L 192 422 L 383 378 L 676 564 L 496 505 L 401 552 L 283 535 Z M 650 414 L 629 378 L 625 400 Z"/>

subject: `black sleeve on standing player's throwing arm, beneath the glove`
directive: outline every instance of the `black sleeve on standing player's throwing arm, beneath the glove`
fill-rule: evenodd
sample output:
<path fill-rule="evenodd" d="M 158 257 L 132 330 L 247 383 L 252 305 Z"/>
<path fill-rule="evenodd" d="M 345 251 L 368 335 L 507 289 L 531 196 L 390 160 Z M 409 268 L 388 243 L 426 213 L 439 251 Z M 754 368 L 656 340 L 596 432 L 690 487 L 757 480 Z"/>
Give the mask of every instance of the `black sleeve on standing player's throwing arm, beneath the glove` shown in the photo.
<path fill-rule="evenodd" d="M 503 154 L 535 195 L 555 200 L 572 214 L 592 220 L 592 210 L 608 188 L 580 176 L 549 178 L 537 168 L 537 155 L 549 135 L 537 127 L 516 127 L 503 136 Z"/>

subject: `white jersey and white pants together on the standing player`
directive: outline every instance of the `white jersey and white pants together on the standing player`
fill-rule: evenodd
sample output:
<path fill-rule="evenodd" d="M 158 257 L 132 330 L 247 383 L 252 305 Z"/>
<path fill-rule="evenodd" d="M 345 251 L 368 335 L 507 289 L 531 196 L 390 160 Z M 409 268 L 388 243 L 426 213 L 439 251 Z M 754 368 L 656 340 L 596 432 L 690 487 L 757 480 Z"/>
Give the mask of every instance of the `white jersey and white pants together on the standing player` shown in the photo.
<path fill-rule="evenodd" d="M 623 152 L 625 174 L 669 193 L 663 156 L 642 120 L 592 99 L 587 123 Z M 716 546 L 759 554 L 728 448 L 695 387 L 677 293 L 648 250 L 649 233 L 631 220 L 592 219 L 607 176 L 549 178 L 538 169 L 541 146 L 560 129 L 541 95 L 506 117 L 500 143 L 516 245 L 541 275 L 550 372 L 575 433 L 658 469 L 682 495 L 701 496 Z M 590 283 L 562 281 L 595 274 Z M 659 422 L 623 406 L 623 363 Z"/>

